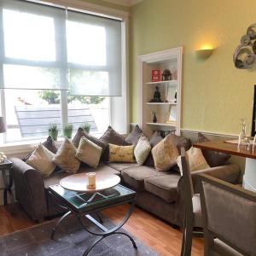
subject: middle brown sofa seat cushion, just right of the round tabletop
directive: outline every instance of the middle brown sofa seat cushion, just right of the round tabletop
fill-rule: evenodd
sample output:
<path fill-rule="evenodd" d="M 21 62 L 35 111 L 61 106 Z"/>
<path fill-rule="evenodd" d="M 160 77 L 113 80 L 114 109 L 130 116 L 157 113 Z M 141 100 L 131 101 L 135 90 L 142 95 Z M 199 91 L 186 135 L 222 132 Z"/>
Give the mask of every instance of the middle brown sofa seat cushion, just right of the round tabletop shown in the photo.
<path fill-rule="evenodd" d="M 157 172 L 148 166 L 137 166 L 121 171 L 122 180 L 137 191 L 144 190 L 145 178 L 162 176 L 163 174 L 164 172 Z"/>

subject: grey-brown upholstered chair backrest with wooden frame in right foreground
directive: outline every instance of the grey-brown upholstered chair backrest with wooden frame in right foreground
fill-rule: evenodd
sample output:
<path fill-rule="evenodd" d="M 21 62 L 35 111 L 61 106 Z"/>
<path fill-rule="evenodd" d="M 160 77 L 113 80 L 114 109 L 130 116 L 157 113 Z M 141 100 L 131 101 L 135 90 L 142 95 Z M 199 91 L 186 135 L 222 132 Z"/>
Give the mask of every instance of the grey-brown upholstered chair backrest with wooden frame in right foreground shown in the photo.
<path fill-rule="evenodd" d="M 256 194 L 206 174 L 200 179 L 205 255 L 217 237 L 239 253 L 255 256 Z"/>

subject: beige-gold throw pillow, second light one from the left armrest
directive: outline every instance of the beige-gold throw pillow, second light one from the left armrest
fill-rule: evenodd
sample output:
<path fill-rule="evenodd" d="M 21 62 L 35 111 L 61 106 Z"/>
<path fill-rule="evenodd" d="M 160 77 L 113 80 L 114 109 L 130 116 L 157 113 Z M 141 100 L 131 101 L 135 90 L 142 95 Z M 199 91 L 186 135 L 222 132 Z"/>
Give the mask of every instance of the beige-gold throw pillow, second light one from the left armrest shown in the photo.
<path fill-rule="evenodd" d="M 57 166 L 68 173 L 79 171 L 80 162 L 75 157 L 77 148 L 67 138 L 61 143 L 61 147 L 55 154 L 53 161 Z"/>

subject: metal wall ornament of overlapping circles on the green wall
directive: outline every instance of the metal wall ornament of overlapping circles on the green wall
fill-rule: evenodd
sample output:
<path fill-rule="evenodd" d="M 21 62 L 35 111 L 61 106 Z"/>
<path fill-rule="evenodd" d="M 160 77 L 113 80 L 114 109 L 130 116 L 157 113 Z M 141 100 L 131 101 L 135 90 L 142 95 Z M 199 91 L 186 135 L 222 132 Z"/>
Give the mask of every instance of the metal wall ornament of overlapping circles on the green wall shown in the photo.
<path fill-rule="evenodd" d="M 235 67 L 253 68 L 256 63 L 256 23 L 247 28 L 247 33 L 241 37 L 240 43 L 233 55 Z"/>

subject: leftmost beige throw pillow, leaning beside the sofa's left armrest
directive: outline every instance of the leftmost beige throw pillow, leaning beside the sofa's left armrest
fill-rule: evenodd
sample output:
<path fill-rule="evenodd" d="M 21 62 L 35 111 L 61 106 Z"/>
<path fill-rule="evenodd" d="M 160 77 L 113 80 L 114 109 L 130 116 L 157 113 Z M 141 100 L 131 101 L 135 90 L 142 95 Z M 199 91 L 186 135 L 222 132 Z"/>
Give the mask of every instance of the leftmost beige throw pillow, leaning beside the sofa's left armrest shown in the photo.
<path fill-rule="evenodd" d="M 44 177 L 48 177 L 55 170 L 55 164 L 52 161 L 54 156 L 55 154 L 40 143 L 26 160 L 26 164 L 37 169 Z"/>

